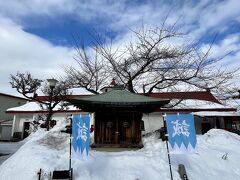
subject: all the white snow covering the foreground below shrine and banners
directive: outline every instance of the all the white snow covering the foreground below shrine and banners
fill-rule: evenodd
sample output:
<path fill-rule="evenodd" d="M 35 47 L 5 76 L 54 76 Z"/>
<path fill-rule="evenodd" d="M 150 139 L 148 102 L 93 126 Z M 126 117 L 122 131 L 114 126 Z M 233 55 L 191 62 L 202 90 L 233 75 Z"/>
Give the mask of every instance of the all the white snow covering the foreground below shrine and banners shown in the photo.
<path fill-rule="evenodd" d="M 0 166 L 0 179 L 34 180 L 40 168 L 45 173 L 68 168 L 69 139 L 60 133 L 64 124 L 46 132 L 39 130 Z M 194 154 L 171 154 L 174 180 L 178 164 L 184 164 L 191 180 L 240 179 L 240 136 L 212 129 L 197 137 Z M 143 139 L 138 151 L 98 152 L 73 159 L 74 179 L 81 180 L 165 180 L 170 179 L 165 143 L 157 134 Z M 226 158 L 222 158 L 224 155 Z M 45 178 L 47 179 L 47 178 Z"/>

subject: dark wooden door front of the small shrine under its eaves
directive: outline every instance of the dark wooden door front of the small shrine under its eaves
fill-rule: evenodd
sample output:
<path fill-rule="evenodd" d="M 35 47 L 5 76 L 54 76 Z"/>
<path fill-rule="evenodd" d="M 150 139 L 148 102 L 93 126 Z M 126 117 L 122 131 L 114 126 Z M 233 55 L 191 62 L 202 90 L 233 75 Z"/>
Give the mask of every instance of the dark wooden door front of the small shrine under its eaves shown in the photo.
<path fill-rule="evenodd" d="M 97 112 L 95 144 L 127 145 L 141 141 L 141 114 L 131 112 Z"/>

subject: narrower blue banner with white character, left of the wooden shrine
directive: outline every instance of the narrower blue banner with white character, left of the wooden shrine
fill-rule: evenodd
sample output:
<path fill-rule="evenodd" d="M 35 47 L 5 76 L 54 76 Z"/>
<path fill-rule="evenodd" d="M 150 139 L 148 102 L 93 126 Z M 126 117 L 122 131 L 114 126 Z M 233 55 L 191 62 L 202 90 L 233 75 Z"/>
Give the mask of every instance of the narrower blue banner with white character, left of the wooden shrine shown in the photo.
<path fill-rule="evenodd" d="M 88 115 L 74 115 L 72 120 L 72 146 L 75 152 L 88 155 L 90 148 L 90 118 Z"/>

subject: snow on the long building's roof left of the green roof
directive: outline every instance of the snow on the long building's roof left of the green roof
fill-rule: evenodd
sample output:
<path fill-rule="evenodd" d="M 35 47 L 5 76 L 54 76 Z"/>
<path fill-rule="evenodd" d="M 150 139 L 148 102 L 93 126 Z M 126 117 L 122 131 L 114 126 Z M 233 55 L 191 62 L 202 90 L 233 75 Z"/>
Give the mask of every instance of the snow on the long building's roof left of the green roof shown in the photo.
<path fill-rule="evenodd" d="M 61 105 L 58 104 L 53 111 L 59 111 L 61 110 Z M 79 110 L 78 108 L 74 107 L 73 105 L 67 106 L 67 109 L 64 108 L 64 110 L 67 111 L 76 111 Z M 46 107 L 41 107 L 38 102 L 28 102 L 22 106 L 13 107 L 7 109 L 7 112 L 37 112 L 37 111 L 47 111 Z"/>

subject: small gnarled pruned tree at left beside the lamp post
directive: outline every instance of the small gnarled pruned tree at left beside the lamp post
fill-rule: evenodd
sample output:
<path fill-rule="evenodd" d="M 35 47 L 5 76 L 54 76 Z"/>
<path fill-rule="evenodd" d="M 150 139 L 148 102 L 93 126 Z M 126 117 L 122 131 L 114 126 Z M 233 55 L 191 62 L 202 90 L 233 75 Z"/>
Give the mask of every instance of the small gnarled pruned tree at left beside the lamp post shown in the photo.
<path fill-rule="evenodd" d="M 60 81 L 55 87 L 49 86 L 46 82 L 43 83 L 40 79 L 35 79 L 30 73 L 17 73 L 16 75 L 10 75 L 10 84 L 12 88 L 15 88 L 18 93 L 24 97 L 37 101 L 43 109 L 47 110 L 47 116 L 45 121 L 45 127 L 49 130 L 51 118 L 54 114 L 53 109 L 70 94 L 69 84 L 66 81 Z M 45 99 L 41 99 L 37 95 L 37 91 L 40 90 L 45 96 Z"/>

